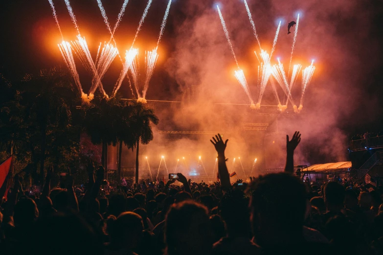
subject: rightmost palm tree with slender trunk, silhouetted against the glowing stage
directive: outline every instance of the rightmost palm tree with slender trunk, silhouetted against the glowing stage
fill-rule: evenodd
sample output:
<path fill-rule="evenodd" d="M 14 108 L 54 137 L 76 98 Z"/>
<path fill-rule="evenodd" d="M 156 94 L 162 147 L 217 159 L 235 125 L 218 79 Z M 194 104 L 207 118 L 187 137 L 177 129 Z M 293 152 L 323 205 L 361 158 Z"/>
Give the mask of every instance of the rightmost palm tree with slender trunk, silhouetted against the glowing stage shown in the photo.
<path fill-rule="evenodd" d="M 153 140 L 151 123 L 158 125 L 158 117 L 154 110 L 146 108 L 142 103 L 135 103 L 131 117 L 131 127 L 135 135 L 135 183 L 138 184 L 138 152 L 139 144 L 149 144 Z"/>

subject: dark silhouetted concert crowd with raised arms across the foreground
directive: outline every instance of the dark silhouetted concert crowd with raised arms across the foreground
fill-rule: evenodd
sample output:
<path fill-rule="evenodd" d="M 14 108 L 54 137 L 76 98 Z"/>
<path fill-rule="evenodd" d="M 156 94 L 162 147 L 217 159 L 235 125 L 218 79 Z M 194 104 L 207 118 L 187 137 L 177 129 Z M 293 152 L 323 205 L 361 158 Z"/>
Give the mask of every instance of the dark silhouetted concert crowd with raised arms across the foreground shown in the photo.
<path fill-rule="evenodd" d="M 84 191 L 73 188 L 72 175 L 51 190 L 50 168 L 42 192 L 27 195 L 15 176 L 0 202 L 0 254 L 383 254 L 383 190 L 309 187 L 293 175 L 299 141 L 299 132 L 287 137 L 285 172 L 248 185 L 230 183 L 220 135 L 211 141 L 220 177 L 212 185 L 178 174 L 181 185 L 169 180 L 105 193 L 104 169 L 90 164 Z"/>

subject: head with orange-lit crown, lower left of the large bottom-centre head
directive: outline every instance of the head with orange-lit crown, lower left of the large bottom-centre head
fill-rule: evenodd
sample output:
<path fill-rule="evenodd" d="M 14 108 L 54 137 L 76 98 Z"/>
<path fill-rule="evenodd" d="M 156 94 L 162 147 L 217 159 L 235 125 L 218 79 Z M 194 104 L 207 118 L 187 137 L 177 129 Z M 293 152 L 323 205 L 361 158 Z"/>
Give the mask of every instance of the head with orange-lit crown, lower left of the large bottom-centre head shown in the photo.
<path fill-rule="evenodd" d="M 107 233 L 111 236 L 111 243 L 119 248 L 134 249 L 143 230 L 142 218 L 134 212 L 123 212 L 118 217 L 109 216 L 107 219 Z"/>

